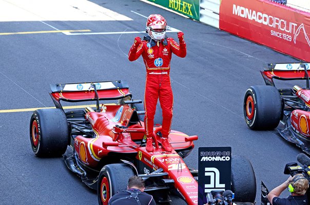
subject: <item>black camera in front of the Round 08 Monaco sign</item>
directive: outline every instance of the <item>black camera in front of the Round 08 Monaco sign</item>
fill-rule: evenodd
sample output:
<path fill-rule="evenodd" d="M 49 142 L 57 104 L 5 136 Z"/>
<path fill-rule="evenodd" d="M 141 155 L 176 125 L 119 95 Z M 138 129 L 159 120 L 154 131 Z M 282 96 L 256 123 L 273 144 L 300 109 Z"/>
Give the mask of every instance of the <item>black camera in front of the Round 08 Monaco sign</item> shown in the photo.
<path fill-rule="evenodd" d="M 209 205 L 230 205 L 233 204 L 235 194 L 230 190 L 213 190 L 207 193 Z"/>

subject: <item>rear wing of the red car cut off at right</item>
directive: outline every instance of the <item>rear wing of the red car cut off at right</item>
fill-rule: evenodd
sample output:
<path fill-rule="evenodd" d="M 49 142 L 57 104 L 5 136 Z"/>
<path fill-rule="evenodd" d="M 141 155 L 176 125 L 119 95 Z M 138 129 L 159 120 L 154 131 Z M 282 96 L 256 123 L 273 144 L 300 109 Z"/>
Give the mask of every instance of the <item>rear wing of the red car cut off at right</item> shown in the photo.
<path fill-rule="evenodd" d="M 261 74 L 266 85 L 275 86 L 274 80 L 300 80 L 306 79 L 306 73 L 301 65 L 304 65 L 307 70 L 310 70 L 310 63 L 285 63 L 285 64 L 267 64 Z"/>

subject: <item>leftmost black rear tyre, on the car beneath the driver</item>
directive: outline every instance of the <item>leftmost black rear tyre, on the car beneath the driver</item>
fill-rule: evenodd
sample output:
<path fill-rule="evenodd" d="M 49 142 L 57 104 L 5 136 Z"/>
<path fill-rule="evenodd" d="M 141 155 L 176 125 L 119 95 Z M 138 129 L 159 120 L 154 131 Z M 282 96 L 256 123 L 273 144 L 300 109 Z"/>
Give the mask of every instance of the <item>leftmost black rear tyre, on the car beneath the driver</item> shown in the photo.
<path fill-rule="evenodd" d="M 38 157 L 58 157 L 68 146 L 67 118 L 61 109 L 35 110 L 30 119 L 30 141 Z"/>

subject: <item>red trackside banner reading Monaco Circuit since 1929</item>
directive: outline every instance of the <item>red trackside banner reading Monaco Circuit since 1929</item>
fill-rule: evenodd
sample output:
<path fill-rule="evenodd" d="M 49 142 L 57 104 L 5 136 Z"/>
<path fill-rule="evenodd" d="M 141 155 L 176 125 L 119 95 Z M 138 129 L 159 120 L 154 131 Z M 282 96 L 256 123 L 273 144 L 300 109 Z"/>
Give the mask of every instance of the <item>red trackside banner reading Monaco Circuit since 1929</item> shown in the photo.
<path fill-rule="evenodd" d="M 220 29 L 310 61 L 310 13 L 268 0 L 222 0 Z"/>

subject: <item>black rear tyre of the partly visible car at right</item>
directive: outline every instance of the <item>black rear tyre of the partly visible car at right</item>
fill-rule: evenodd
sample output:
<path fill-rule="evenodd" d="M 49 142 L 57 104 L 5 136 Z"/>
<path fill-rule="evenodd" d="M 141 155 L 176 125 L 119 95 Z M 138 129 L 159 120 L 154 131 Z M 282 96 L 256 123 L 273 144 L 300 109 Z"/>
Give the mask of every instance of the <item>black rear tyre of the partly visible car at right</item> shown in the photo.
<path fill-rule="evenodd" d="M 280 93 L 274 86 L 251 86 L 244 95 L 244 119 L 253 130 L 275 129 L 282 116 Z"/>

